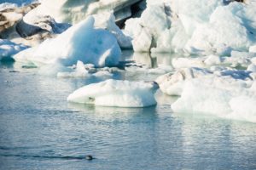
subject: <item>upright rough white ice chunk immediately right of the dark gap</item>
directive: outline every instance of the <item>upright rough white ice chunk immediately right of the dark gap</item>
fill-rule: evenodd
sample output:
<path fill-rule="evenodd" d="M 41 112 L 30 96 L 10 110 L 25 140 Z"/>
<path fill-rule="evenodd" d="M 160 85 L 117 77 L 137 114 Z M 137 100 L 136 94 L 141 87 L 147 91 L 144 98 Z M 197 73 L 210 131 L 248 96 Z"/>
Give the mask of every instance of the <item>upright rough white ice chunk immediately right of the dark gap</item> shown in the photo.
<path fill-rule="evenodd" d="M 147 5 L 140 19 L 125 22 L 125 32 L 133 37 L 134 51 L 149 52 L 162 31 L 170 27 L 170 16 L 166 14 L 164 3 Z"/>

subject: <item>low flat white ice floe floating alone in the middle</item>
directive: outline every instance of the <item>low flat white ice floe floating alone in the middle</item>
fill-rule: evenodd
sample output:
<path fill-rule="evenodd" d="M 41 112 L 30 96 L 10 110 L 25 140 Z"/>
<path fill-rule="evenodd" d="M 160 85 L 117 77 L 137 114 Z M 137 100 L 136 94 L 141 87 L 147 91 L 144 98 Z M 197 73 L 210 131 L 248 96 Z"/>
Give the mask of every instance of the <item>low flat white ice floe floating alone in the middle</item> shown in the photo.
<path fill-rule="evenodd" d="M 79 88 L 67 101 L 117 107 L 146 107 L 156 105 L 154 82 L 129 82 L 109 79 Z"/>

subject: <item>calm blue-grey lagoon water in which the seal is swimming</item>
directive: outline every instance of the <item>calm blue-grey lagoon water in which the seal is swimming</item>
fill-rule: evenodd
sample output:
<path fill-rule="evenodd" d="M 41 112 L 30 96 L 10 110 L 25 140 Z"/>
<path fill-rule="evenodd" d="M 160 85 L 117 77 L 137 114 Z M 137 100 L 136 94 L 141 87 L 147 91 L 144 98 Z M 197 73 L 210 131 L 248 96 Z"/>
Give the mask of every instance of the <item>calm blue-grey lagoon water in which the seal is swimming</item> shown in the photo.
<path fill-rule="evenodd" d="M 143 109 L 72 105 L 68 94 L 99 80 L 16 70 L 0 65 L 0 169 L 256 169 L 254 123 L 173 113 L 160 93 Z M 154 79 L 115 78 L 142 77 Z"/>

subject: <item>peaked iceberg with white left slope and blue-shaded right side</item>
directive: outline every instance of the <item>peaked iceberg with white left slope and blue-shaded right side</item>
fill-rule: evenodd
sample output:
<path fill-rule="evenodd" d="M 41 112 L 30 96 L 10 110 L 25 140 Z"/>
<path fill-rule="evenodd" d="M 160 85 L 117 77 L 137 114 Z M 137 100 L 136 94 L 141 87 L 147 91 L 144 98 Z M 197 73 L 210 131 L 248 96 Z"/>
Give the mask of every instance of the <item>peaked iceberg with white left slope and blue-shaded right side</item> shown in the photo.
<path fill-rule="evenodd" d="M 119 64 L 121 50 L 116 38 L 108 31 L 94 28 L 94 18 L 88 17 L 40 45 L 14 56 L 16 61 L 34 65 L 73 65 L 78 60 L 96 67 Z"/>

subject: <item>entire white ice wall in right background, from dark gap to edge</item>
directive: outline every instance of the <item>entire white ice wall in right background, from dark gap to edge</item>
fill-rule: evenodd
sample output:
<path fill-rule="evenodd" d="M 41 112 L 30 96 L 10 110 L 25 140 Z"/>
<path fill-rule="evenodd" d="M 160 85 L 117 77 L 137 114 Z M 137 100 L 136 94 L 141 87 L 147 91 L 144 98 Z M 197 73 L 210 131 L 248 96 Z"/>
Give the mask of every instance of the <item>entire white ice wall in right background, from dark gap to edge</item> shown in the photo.
<path fill-rule="evenodd" d="M 125 22 L 138 52 L 229 54 L 256 44 L 256 3 L 147 0 L 140 18 Z"/>

